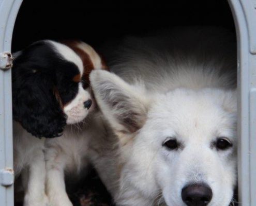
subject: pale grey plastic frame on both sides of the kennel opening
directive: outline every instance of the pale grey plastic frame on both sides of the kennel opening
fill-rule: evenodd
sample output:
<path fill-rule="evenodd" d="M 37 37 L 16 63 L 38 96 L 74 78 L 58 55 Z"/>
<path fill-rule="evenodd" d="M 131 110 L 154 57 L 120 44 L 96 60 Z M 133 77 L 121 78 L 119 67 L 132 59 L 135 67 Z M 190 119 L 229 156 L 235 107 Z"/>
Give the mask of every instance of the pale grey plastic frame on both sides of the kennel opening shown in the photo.
<path fill-rule="evenodd" d="M 225 0 L 223 0 L 225 1 Z M 256 0 L 228 0 L 237 33 L 239 202 L 256 205 Z M 0 0 L 0 205 L 13 206 L 11 37 L 22 0 Z M 196 4 L 196 1 L 195 1 Z M 224 191 L 223 191 L 224 192 Z"/>

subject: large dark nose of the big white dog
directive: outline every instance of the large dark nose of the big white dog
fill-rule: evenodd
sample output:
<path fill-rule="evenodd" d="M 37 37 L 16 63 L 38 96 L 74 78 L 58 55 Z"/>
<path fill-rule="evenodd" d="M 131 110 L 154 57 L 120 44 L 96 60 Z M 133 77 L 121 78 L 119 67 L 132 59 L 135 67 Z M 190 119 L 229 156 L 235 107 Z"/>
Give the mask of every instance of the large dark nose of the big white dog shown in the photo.
<path fill-rule="evenodd" d="M 213 192 L 206 184 L 189 184 L 182 189 L 182 200 L 188 206 L 206 206 L 212 198 Z"/>

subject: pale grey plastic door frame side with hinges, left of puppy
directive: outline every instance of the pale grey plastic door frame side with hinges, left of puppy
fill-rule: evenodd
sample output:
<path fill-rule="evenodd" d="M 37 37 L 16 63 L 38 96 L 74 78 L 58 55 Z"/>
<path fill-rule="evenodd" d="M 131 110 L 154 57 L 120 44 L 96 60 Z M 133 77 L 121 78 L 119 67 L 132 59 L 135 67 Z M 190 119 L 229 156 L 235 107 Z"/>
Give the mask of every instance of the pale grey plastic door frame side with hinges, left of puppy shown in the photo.
<path fill-rule="evenodd" d="M 0 0 L 0 205 L 13 203 L 11 38 L 21 0 Z"/>

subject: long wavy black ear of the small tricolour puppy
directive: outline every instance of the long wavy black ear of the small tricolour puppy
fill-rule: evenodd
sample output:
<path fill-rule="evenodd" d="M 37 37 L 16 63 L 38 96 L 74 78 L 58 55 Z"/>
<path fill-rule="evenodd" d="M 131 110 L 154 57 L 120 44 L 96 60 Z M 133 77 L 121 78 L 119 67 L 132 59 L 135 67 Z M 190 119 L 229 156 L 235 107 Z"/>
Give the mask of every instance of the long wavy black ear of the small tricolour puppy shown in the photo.
<path fill-rule="evenodd" d="M 60 136 L 66 125 L 66 115 L 55 95 L 54 58 L 50 45 L 39 42 L 13 62 L 13 119 L 38 138 Z"/>

